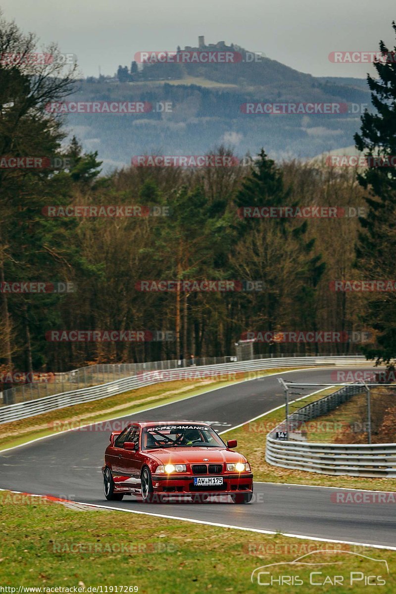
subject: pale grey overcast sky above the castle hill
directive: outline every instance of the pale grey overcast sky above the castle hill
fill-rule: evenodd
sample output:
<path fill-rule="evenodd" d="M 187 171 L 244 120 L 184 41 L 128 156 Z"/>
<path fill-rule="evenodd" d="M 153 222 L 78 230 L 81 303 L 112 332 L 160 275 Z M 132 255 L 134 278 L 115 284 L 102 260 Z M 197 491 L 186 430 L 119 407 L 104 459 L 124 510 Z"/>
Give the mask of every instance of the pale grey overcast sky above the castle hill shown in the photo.
<path fill-rule="evenodd" d="M 114 74 L 135 52 L 237 43 L 315 76 L 360 77 L 369 64 L 332 64 L 332 51 L 393 48 L 394 0 L 2 0 L 4 15 L 43 43 L 75 53 L 85 76 Z"/>

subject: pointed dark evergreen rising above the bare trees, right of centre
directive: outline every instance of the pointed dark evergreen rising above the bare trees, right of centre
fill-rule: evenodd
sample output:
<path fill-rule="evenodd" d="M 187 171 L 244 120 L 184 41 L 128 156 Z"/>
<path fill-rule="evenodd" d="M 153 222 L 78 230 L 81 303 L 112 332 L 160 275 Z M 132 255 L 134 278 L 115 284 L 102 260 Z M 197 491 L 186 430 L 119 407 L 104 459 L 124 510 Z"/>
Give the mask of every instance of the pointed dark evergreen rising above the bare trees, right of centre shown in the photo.
<path fill-rule="evenodd" d="M 251 175 L 243 181 L 236 203 L 238 207 L 296 207 L 291 188 L 285 188 L 283 172 L 261 150 Z M 320 254 L 314 254 L 315 239 L 307 239 L 308 224 L 295 219 L 243 219 L 239 225 L 242 246 L 251 245 L 251 274 L 262 273 L 265 290 L 247 295 L 247 317 L 255 312 L 258 330 L 316 330 L 316 287 L 325 270 Z M 242 248 L 244 249 L 244 248 Z M 287 263 L 287 264 L 286 264 Z M 235 264 L 237 267 L 238 264 Z M 286 275 L 286 268 L 289 272 Z M 290 316 L 290 312 L 298 312 Z M 304 327 L 285 328 L 285 323 Z M 245 328 L 248 330 L 248 328 Z"/>

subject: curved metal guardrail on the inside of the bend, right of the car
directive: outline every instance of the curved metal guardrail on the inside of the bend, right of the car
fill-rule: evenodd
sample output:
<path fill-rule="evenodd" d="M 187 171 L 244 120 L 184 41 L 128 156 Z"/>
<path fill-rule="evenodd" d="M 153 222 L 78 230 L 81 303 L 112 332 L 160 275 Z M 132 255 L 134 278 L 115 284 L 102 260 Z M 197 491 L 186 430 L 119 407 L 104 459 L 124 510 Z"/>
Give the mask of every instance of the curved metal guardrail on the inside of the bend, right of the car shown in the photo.
<path fill-rule="evenodd" d="M 298 427 L 324 415 L 363 391 L 364 386 L 356 384 L 341 388 L 290 415 L 289 426 L 291 422 Z M 276 431 L 284 428 L 283 422 L 267 435 L 265 460 L 271 465 L 325 475 L 396 476 L 396 444 L 328 444 L 275 439 Z"/>

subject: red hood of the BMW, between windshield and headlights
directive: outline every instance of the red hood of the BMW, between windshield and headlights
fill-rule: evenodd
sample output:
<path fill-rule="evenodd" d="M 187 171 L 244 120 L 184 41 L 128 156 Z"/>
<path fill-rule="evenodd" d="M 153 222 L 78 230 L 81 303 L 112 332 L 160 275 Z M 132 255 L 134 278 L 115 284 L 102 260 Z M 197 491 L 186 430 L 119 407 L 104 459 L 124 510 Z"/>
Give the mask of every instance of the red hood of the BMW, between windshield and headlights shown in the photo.
<path fill-rule="evenodd" d="M 145 454 L 158 460 L 161 464 L 199 464 L 206 462 L 247 462 L 244 456 L 236 451 L 226 450 L 225 448 L 205 448 L 205 447 L 167 447 L 160 450 L 145 450 Z M 206 458 L 207 460 L 204 460 Z"/>

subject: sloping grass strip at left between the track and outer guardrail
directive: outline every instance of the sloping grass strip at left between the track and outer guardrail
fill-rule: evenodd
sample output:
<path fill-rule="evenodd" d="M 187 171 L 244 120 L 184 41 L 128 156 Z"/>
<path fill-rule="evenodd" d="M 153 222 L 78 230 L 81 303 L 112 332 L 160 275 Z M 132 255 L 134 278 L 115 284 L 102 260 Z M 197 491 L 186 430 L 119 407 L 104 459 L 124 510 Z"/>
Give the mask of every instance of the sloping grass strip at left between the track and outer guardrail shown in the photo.
<path fill-rule="evenodd" d="M 195 368 L 195 371 L 198 373 L 199 368 Z M 264 377 L 264 375 L 271 375 L 281 371 L 290 371 L 290 369 L 267 369 L 256 372 L 256 377 Z M 231 381 L 229 380 L 230 377 Z M 62 429 L 66 430 L 91 422 L 106 421 L 107 419 L 131 415 L 148 407 L 176 402 L 195 394 L 202 394 L 208 390 L 229 386 L 235 381 L 249 378 L 254 378 L 253 372 L 248 372 L 248 374 L 223 374 L 223 381 L 218 381 L 216 378 L 194 381 L 167 381 L 109 396 L 101 400 L 93 400 L 81 405 L 53 410 L 20 421 L 4 423 L 0 425 L 0 451 L 39 437 L 51 435 L 54 432 L 58 433 Z M 53 423 L 56 421 L 62 421 L 63 423 L 54 431 Z"/>

